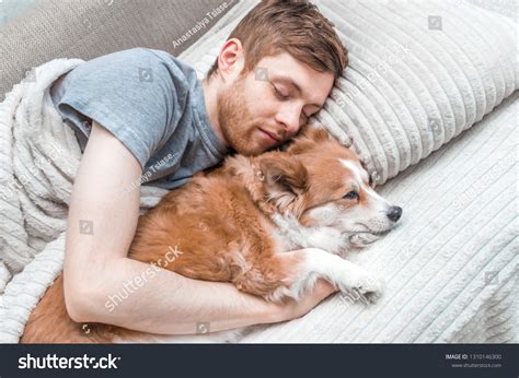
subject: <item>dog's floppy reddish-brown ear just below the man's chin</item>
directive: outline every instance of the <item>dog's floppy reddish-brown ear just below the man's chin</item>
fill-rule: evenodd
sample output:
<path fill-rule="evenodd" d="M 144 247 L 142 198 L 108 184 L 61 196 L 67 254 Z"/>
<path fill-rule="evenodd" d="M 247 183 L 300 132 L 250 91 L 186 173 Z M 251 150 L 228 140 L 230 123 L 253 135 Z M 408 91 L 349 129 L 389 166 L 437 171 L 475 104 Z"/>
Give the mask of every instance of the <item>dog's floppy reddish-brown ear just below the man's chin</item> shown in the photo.
<path fill-rule="evenodd" d="M 264 176 L 264 190 L 267 201 L 280 212 L 290 211 L 299 216 L 302 212 L 301 194 L 308 190 L 308 172 L 297 156 L 279 154 L 264 157 L 260 162 Z"/>

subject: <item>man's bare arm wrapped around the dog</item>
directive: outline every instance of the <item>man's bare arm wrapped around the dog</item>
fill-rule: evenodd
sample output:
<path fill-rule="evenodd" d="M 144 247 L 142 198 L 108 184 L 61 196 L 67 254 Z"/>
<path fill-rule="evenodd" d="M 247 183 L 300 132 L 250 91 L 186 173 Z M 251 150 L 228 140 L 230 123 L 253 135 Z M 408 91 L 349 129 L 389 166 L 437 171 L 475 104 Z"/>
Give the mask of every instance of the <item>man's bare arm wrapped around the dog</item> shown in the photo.
<path fill-rule="evenodd" d="M 196 281 L 160 269 L 136 277 L 149 264 L 127 258 L 139 216 L 140 165 L 134 155 L 95 121 L 73 186 L 65 259 L 65 297 L 78 322 L 103 322 L 134 330 L 195 333 L 197 322 L 211 331 L 302 316 L 334 292 L 320 282 L 300 303 L 269 304 L 239 292 L 232 284 Z M 126 192 L 125 192 L 126 191 Z M 109 297 L 128 292 L 107 306 Z M 136 290 L 135 290 L 136 288 Z M 126 293 L 125 293 L 126 294 Z"/>

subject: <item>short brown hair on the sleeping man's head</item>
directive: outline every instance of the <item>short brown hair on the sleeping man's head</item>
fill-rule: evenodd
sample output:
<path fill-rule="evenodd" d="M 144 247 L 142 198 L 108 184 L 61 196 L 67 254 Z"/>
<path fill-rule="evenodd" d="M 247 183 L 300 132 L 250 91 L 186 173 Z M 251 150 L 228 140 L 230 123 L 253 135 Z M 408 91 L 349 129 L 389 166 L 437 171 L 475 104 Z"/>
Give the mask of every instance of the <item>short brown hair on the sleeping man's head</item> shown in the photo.
<path fill-rule="evenodd" d="M 228 39 L 243 45 L 245 68 L 252 72 L 264 57 L 288 52 L 318 72 L 332 72 L 337 79 L 348 63 L 347 50 L 319 9 L 305 0 L 264 0 L 254 7 L 231 32 Z M 218 58 L 207 73 L 218 70 Z"/>

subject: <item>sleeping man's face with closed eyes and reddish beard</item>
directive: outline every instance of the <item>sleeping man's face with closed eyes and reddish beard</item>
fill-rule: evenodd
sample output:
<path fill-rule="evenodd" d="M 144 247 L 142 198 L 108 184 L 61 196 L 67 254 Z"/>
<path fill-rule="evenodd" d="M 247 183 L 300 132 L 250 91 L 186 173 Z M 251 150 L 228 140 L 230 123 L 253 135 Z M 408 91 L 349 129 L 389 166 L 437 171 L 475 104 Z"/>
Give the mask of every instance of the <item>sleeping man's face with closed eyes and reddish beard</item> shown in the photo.
<path fill-rule="evenodd" d="M 257 155 L 295 137 L 332 91 L 334 75 L 282 52 L 265 57 L 218 95 L 218 122 L 231 147 Z"/>

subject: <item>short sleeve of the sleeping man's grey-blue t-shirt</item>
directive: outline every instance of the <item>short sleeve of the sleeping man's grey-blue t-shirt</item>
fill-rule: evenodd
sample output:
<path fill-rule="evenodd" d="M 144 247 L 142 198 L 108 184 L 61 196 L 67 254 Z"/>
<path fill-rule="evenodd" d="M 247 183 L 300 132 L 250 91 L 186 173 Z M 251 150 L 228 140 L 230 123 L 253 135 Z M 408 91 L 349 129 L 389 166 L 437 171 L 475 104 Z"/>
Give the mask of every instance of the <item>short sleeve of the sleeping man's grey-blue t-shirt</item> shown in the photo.
<path fill-rule="evenodd" d="M 66 78 L 59 108 L 97 121 L 146 163 L 173 133 L 186 102 L 184 74 L 145 48 L 118 51 L 80 64 Z"/>

